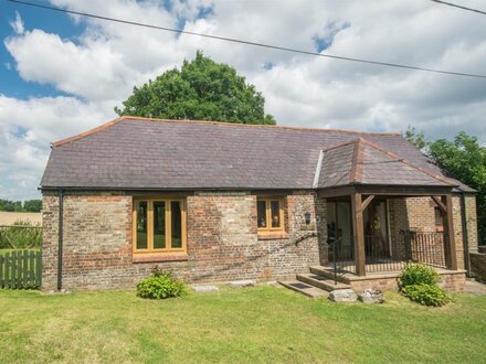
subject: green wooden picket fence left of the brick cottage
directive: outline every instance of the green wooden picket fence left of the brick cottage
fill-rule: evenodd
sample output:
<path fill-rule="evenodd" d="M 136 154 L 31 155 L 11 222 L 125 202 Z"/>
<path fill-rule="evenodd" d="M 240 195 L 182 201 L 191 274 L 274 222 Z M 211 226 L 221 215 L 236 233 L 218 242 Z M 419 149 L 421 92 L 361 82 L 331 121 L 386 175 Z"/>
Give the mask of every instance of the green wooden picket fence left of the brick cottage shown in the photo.
<path fill-rule="evenodd" d="M 32 289 L 42 283 L 41 250 L 0 250 L 0 288 Z"/>

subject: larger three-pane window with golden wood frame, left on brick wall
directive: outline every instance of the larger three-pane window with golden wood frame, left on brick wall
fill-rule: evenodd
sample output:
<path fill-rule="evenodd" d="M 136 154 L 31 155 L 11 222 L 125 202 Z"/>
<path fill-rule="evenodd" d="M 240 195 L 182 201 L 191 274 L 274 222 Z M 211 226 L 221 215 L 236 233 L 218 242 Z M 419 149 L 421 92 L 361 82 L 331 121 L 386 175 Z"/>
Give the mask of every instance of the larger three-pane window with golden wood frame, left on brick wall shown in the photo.
<path fill-rule="evenodd" d="M 134 253 L 184 250 L 184 202 L 178 199 L 134 200 Z"/>

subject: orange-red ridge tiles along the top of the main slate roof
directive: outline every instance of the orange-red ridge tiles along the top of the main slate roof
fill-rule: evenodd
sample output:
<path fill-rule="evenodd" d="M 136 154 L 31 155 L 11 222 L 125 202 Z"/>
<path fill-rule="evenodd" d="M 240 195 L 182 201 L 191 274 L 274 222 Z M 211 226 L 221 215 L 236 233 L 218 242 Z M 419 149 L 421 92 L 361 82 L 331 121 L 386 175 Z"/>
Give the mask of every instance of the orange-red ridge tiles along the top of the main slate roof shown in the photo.
<path fill-rule="evenodd" d="M 400 136 L 400 132 L 374 132 L 374 131 L 357 131 L 357 130 L 344 130 L 344 129 L 304 128 L 304 127 L 289 127 L 289 126 L 262 125 L 262 124 L 237 124 L 237 122 L 211 121 L 211 120 L 176 120 L 176 119 L 159 119 L 159 118 L 147 118 L 141 116 L 124 115 L 108 122 L 102 124 L 101 126 L 89 129 L 87 131 L 81 132 L 70 138 L 54 141 L 52 142 L 52 147 L 60 147 L 71 141 L 75 141 L 84 137 L 88 137 L 93 133 L 105 130 L 124 120 L 177 122 L 177 124 L 207 124 L 207 125 L 220 125 L 225 127 L 249 127 L 249 128 L 268 128 L 268 129 L 304 130 L 304 131 L 319 131 L 319 132 L 342 132 L 342 133 L 356 133 L 356 135 L 366 135 L 366 136 Z"/>

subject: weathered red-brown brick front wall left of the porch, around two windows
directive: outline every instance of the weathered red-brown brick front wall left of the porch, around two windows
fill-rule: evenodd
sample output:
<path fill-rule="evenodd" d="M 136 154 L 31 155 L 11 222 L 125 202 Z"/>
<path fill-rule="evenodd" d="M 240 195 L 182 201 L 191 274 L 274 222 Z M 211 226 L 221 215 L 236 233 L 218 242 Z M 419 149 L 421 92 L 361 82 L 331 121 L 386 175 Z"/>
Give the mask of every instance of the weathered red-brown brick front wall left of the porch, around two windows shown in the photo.
<path fill-rule="evenodd" d="M 57 195 L 44 192 L 43 203 L 43 289 L 51 290 L 56 288 L 57 277 Z M 155 267 L 170 270 L 188 282 L 293 276 L 319 264 L 325 222 L 316 216 L 325 212 L 325 204 L 317 202 L 313 192 L 290 193 L 285 196 L 285 234 L 262 237 L 256 228 L 256 195 L 193 193 L 187 196 L 187 258 L 134 263 L 131 195 L 66 193 L 63 287 L 134 288 Z M 304 221 L 306 212 L 311 214 L 308 226 Z"/>

